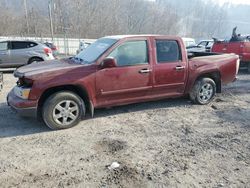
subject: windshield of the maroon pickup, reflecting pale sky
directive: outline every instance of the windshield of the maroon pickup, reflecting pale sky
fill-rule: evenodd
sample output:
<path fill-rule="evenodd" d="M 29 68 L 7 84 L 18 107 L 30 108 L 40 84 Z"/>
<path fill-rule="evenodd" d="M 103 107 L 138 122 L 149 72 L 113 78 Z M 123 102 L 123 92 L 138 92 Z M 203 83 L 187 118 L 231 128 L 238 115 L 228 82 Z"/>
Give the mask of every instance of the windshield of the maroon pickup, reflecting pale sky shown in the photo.
<path fill-rule="evenodd" d="M 116 43 L 116 39 L 101 38 L 77 54 L 74 59 L 82 63 L 96 61 L 108 48 Z"/>

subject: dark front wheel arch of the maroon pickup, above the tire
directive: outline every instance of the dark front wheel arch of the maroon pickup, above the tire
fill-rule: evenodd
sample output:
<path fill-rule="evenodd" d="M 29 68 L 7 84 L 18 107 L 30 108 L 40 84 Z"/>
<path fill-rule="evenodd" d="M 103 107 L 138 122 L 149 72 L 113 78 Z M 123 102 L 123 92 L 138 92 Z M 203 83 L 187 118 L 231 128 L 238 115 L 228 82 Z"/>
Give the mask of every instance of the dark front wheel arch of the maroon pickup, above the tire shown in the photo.
<path fill-rule="evenodd" d="M 40 119 L 42 117 L 42 108 L 44 105 L 44 102 L 46 101 L 46 99 L 51 96 L 54 93 L 60 92 L 60 91 L 71 91 L 75 94 L 77 94 L 85 103 L 86 105 L 86 110 L 89 110 L 91 113 L 91 116 L 93 116 L 94 114 L 94 107 L 93 104 L 89 98 L 89 94 L 87 92 L 87 90 L 82 87 L 82 86 L 78 86 L 78 85 L 63 85 L 63 86 L 56 86 L 56 87 L 51 87 L 48 88 L 47 90 L 45 90 L 43 92 L 43 94 L 41 95 L 41 97 L 39 98 L 38 101 L 38 110 L 37 110 L 37 117 Z"/>

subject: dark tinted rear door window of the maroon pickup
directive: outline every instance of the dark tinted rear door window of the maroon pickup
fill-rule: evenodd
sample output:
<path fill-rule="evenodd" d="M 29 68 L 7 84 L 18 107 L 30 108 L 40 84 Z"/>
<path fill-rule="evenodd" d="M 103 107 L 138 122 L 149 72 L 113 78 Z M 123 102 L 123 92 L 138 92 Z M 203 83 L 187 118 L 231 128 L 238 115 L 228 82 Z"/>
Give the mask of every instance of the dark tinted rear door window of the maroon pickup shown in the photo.
<path fill-rule="evenodd" d="M 181 52 L 177 41 L 156 40 L 158 63 L 177 62 L 181 60 Z"/>

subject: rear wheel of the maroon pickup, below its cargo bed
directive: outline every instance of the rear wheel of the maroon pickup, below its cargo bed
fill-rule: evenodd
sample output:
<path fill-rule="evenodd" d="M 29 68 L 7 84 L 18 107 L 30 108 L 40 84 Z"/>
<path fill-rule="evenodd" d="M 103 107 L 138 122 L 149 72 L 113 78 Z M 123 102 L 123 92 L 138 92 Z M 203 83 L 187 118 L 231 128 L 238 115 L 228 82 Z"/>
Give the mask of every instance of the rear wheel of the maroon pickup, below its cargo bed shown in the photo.
<path fill-rule="evenodd" d="M 195 104 L 205 105 L 210 103 L 216 94 L 216 84 L 211 78 L 197 80 L 189 94 Z"/>

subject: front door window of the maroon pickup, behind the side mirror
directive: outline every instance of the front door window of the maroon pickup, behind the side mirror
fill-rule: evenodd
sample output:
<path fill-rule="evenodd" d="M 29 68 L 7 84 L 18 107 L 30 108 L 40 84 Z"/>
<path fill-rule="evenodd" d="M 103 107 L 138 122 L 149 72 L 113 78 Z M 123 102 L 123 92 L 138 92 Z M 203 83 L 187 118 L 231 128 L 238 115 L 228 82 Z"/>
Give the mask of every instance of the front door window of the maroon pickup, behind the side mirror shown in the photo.
<path fill-rule="evenodd" d="M 115 48 L 108 57 L 115 58 L 118 67 L 148 64 L 147 42 L 125 42 Z"/>

